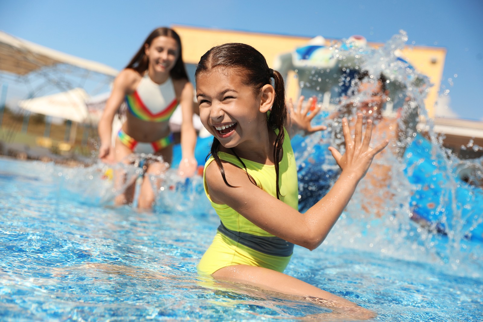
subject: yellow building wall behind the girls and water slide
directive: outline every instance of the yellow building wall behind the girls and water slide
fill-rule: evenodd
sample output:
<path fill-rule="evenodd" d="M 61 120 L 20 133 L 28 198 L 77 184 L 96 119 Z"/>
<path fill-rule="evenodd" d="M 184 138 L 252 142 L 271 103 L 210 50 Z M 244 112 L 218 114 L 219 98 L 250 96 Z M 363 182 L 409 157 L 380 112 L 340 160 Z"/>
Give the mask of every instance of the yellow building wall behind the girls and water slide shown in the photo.
<path fill-rule="evenodd" d="M 183 45 L 183 59 L 185 63 L 197 64 L 199 58 L 210 48 L 227 42 L 242 42 L 255 47 L 267 60 L 269 67 L 273 65 L 276 56 L 288 53 L 303 46 L 310 38 L 265 34 L 246 31 L 198 28 L 190 26 L 171 26 L 181 37 Z M 347 35 L 349 37 L 350 35 Z M 327 45 L 335 39 L 326 39 Z M 383 43 L 368 42 L 375 48 Z M 425 105 L 429 117 L 434 117 L 434 104 L 438 98 L 440 83 L 444 68 L 446 50 L 439 47 L 407 46 L 402 56 L 420 73 L 426 75 L 433 86 L 427 93 Z M 293 74 L 287 77 L 287 97 L 297 98 L 298 84 L 293 81 Z"/>

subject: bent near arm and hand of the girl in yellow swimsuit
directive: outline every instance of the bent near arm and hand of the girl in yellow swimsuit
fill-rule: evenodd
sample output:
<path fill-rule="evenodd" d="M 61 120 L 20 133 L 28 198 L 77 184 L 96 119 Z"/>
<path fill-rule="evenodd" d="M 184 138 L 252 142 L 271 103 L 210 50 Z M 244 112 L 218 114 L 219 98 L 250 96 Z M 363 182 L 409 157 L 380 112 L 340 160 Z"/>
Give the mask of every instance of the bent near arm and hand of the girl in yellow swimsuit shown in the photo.
<path fill-rule="evenodd" d="M 211 199 L 219 204 L 227 204 L 270 234 L 310 250 L 317 248 L 347 206 L 374 155 L 381 152 L 388 143 L 385 141 L 375 149 L 369 147 L 372 131 L 370 121 L 362 140 L 362 115 L 358 115 L 354 139 L 346 119 L 343 119 L 342 126 L 346 153 L 341 155 L 335 148 L 329 148 L 342 168 L 341 176 L 327 195 L 306 213 L 301 214 L 270 196 L 250 182 L 243 169 L 227 162 L 224 163 L 227 182 L 234 187 L 225 184 L 214 162 L 206 168 L 206 182 Z"/>

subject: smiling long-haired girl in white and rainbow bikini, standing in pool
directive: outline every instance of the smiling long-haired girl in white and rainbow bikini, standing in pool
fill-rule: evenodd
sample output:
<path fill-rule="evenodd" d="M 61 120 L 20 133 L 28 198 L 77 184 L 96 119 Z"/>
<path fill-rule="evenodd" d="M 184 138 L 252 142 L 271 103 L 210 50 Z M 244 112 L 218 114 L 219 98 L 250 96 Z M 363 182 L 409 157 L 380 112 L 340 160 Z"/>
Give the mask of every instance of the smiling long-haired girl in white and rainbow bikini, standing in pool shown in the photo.
<path fill-rule="evenodd" d="M 127 161 L 132 153 L 160 155 L 171 162 L 173 135 L 169 119 L 180 105 L 182 161 L 180 174 L 191 175 L 197 168 L 194 155 L 196 131 L 193 127 L 193 85 L 188 81 L 182 59 L 181 40 L 170 28 L 157 28 L 144 41 L 128 66 L 114 80 L 111 97 L 99 121 L 99 158 L 108 163 Z M 112 124 L 121 103 L 128 107 L 126 121 L 112 141 Z M 139 194 L 139 208 L 150 208 L 154 191 L 150 174 L 165 170 L 164 163 L 151 162 Z M 119 180 L 119 178 L 118 178 Z M 129 187 L 116 198 L 117 204 L 131 203 L 134 190 Z"/>

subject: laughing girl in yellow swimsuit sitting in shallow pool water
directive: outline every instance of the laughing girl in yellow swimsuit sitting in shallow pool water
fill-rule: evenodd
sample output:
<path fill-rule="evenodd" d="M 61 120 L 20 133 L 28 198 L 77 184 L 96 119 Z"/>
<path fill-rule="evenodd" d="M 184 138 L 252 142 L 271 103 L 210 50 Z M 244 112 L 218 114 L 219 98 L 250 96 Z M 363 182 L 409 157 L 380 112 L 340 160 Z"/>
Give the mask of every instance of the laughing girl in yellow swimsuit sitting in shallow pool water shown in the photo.
<path fill-rule="evenodd" d="M 272 85 L 271 79 L 274 79 Z M 306 213 L 298 212 L 298 182 L 289 134 L 294 125 L 306 131 L 317 111 L 307 114 L 284 97 L 284 81 L 269 69 L 255 48 L 228 43 L 213 47 L 199 61 L 196 95 L 200 118 L 213 134 L 205 165 L 205 191 L 221 224 L 198 271 L 218 280 L 251 284 L 299 295 L 332 309 L 342 318 L 368 319 L 374 312 L 283 273 L 293 245 L 317 248 L 353 195 L 375 154 L 369 147 L 371 125 L 355 137 L 342 124 L 345 154 L 330 151 L 342 169 L 330 192 Z M 292 126 L 291 126 L 291 125 Z M 214 162 L 213 162 L 214 161 Z"/>

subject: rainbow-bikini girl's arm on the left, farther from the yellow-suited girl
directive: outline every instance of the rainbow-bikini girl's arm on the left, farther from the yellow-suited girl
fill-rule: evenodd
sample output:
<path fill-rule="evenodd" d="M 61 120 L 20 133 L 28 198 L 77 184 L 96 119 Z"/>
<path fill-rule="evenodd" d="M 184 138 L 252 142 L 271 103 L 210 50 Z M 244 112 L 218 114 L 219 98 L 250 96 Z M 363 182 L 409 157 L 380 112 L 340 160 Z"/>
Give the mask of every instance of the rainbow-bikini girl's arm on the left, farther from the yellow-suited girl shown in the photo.
<path fill-rule="evenodd" d="M 104 107 L 104 112 L 102 112 L 102 116 L 99 120 L 99 159 L 104 162 L 114 162 L 114 155 L 112 153 L 113 147 L 111 146 L 113 120 L 129 90 L 129 87 L 131 87 L 136 80 L 136 74 L 137 73 L 134 70 L 123 70 L 117 75 L 114 80 L 111 96 L 108 98 L 106 106 Z"/>

